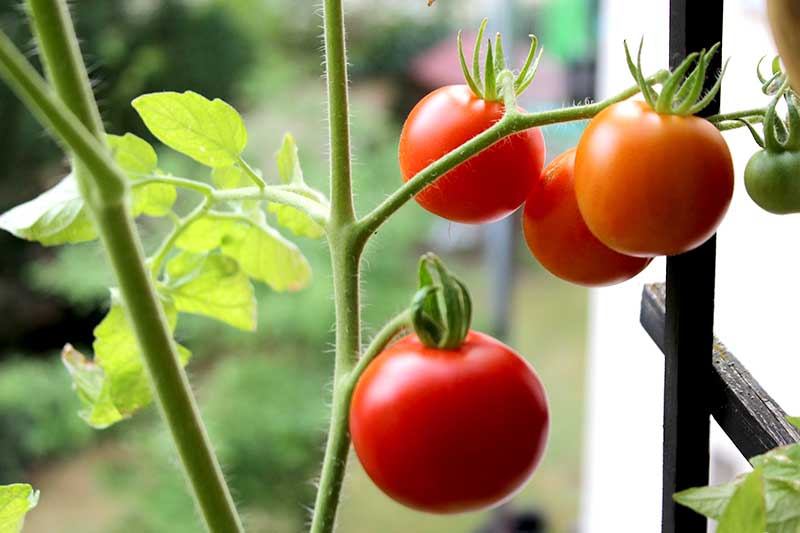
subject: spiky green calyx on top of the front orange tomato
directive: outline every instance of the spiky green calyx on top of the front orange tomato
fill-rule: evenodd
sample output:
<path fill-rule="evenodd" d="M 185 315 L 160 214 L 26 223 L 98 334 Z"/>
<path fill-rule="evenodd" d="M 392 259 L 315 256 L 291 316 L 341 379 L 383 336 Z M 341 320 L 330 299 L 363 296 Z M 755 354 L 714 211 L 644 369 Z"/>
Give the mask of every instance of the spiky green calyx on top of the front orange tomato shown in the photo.
<path fill-rule="evenodd" d="M 719 92 L 719 88 L 722 85 L 722 77 L 728 67 L 728 61 L 726 60 L 716 82 L 703 95 L 706 72 L 711 64 L 711 58 L 714 57 L 720 47 L 720 43 L 717 43 L 709 48 L 708 51 L 703 49 L 700 52 L 694 52 L 686 56 L 686 59 L 663 81 L 661 92 L 658 93 L 652 85 L 647 83 L 642 73 L 642 42 L 639 42 L 639 51 L 636 55 L 635 64 L 631 58 L 627 41 L 624 42 L 624 46 L 628 69 L 641 88 L 642 96 L 644 96 L 647 104 L 661 115 L 694 115 L 705 109 Z M 690 70 L 691 72 L 689 72 Z"/>

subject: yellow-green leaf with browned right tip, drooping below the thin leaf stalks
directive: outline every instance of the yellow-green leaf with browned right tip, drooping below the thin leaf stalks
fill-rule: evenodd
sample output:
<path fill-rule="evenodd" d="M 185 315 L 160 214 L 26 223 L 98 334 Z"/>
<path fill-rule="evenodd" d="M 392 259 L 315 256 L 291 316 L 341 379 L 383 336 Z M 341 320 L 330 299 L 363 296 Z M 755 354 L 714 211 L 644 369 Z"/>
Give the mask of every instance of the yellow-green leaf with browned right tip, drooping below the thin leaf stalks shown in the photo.
<path fill-rule="evenodd" d="M 276 291 L 299 290 L 311 281 L 302 252 L 262 220 L 209 213 L 193 222 L 176 245 L 193 253 L 220 247 L 245 274 Z"/>

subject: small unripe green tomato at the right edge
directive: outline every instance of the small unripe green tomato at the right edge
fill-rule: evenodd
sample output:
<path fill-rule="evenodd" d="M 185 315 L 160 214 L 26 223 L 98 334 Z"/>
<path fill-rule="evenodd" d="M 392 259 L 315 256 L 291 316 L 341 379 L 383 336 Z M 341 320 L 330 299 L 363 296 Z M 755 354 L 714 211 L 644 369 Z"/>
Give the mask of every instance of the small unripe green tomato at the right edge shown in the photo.
<path fill-rule="evenodd" d="M 744 169 L 744 185 L 762 209 L 800 213 L 800 152 L 756 152 Z"/>

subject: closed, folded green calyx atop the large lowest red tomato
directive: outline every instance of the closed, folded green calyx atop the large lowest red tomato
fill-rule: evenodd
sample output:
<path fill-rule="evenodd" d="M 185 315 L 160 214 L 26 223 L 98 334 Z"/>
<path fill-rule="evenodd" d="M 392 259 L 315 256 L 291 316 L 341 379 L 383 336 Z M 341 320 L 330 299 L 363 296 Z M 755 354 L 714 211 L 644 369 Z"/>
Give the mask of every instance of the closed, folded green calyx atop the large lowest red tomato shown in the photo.
<path fill-rule="evenodd" d="M 419 262 L 419 290 L 411 301 L 411 325 L 431 348 L 461 346 L 472 322 L 472 299 L 466 285 L 432 253 Z"/>

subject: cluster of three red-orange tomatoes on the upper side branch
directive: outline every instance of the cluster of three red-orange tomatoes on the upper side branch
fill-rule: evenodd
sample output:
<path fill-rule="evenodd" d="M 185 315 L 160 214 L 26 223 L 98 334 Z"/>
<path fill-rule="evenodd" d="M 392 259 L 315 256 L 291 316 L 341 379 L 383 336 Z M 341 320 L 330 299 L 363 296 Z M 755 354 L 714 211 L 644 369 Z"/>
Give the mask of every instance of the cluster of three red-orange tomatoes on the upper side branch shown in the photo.
<path fill-rule="evenodd" d="M 503 104 L 466 86 L 425 97 L 400 137 L 406 180 L 488 129 Z M 656 113 L 625 101 L 600 112 L 577 148 L 544 170 L 538 129 L 513 135 L 459 165 L 417 195 L 448 220 L 485 223 L 523 203 L 528 247 L 554 275 L 586 286 L 618 283 L 658 255 L 705 242 L 733 194 L 727 144 L 710 122 Z"/>

